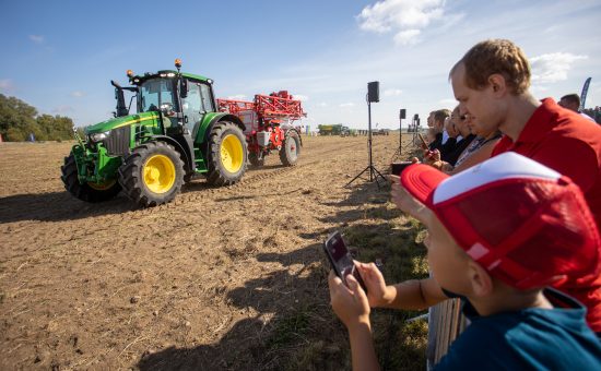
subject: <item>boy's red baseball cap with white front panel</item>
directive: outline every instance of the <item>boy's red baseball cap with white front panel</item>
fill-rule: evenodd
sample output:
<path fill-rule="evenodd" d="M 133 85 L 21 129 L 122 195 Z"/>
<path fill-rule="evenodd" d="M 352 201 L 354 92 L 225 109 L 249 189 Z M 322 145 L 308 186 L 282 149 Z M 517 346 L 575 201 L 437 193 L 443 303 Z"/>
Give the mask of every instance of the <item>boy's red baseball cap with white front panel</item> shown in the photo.
<path fill-rule="evenodd" d="M 509 286 L 599 274 L 601 242 L 582 192 L 530 158 L 507 152 L 452 177 L 416 164 L 401 173 L 401 184 L 471 259 Z"/>

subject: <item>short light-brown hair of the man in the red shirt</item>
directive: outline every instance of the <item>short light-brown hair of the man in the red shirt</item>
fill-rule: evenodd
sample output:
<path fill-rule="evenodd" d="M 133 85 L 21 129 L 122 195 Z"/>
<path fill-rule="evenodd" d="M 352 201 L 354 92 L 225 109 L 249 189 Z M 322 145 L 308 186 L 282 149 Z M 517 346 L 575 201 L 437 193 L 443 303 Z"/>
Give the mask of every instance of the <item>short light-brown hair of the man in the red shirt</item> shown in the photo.
<path fill-rule="evenodd" d="M 474 45 L 452 68 L 466 67 L 466 85 L 473 89 L 483 89 L 488 85 L 488 77 L 498 73 L 512 94 L 526 93 L 530 87 L 530 63 L 523 51 L 506 39 L 488 39 Z"/>

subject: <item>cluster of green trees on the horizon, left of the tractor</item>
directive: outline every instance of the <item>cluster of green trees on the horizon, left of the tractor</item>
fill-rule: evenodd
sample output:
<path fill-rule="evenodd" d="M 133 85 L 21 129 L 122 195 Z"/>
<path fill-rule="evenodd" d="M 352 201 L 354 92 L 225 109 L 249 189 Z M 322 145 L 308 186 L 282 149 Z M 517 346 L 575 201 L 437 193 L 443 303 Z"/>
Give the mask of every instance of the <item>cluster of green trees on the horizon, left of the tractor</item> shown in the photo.
<path fill-rule="evenodd" d="M 25 101 L 0 94 L 0 134 L 4 141 L 26 141 L 32 133 L 37 141 L 70 140 L 72 128 L 73 120 L 68 117 L 38 115 Z"/>

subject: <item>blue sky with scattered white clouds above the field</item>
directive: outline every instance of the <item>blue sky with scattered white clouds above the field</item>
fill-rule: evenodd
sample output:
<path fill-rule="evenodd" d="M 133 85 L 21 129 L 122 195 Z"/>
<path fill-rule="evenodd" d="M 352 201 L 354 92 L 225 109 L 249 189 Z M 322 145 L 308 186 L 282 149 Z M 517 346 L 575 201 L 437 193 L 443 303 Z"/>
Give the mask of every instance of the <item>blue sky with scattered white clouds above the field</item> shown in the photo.
<path fill-rule="evenodd" d="M 0 0 L 0 93 L 76 125 L 110 117 L 110 80 L 173 69 L 211 77 L 217 97 L 287 89 L 305 124 L 366 128 L 399 109 L 452 108 L 448 71 L 475 43 L 509 38 L 531 61 L 531 92 L 558 99 L 592 77 L 601 106 L 601 0 L 9 1 Z M 408 121 L 408 120 L 406 120 Z M 406 121 L 404 123 L 406 123 Z"/>

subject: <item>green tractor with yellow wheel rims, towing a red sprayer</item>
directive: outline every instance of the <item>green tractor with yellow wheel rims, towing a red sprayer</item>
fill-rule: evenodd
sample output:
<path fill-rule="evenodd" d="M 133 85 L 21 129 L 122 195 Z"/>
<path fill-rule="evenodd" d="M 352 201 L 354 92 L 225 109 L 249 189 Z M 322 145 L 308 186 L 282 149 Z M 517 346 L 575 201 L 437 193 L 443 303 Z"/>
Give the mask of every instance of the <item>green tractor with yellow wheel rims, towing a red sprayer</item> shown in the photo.
<path fill-rule="evenodd" d="M 103 202 L 120 191 L 148 207 L 172 201 L 185 182 L 203 175 L 213 185 L 229 185 L 247 169 L 245 125 L 217 111 L 213 81 L 177 71 L 134 75 L 132 86 L 115 86 L 115 118 L 85 128 L 61 167 L 64 188 L 86 202 Z M 125 91 L 135 97 L 130 115 Z"/>

